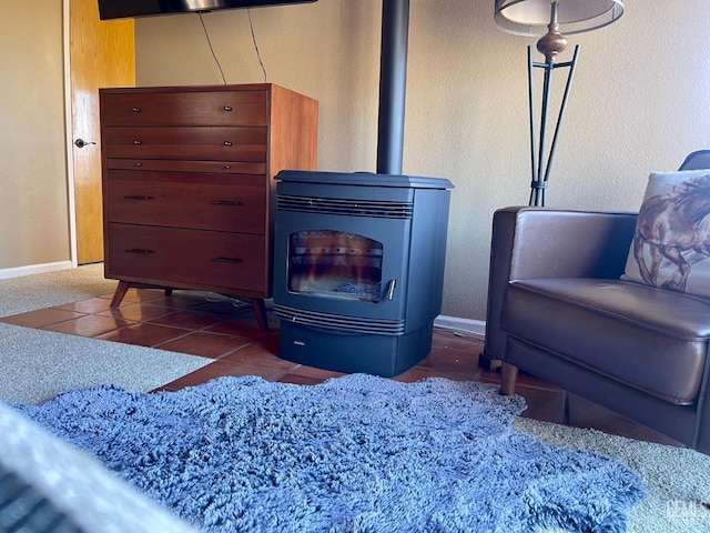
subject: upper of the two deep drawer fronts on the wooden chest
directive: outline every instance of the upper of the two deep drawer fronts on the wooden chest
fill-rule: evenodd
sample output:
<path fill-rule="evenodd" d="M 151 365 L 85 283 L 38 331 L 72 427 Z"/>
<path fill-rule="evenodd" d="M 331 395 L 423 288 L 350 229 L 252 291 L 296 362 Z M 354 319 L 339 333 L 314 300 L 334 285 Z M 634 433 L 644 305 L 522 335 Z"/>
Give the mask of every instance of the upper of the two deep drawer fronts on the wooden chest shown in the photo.
<path fill-rule="evenodd" d="M 139 178 L 118 178 L 126 174 Z M 109 172 L 108 218 L 110 222 L 263 235 L 267 199 L 264 178 L 244 175 L 223 181 L 226 183 L 205 183 L 190 174 Z"/>

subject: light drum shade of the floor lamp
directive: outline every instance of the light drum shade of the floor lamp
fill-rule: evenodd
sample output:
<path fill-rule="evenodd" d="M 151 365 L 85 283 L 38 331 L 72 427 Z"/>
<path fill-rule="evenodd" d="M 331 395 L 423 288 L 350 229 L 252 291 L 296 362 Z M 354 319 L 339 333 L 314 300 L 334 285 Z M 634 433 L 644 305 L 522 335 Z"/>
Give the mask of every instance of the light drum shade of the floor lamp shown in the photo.
<path fill-rule="evenodd" d="M 495 0 L 496 24 L 518 36 L 544 36 L 550 0 Z M 555 0 L 552 0 L 555 1 Z M 556 0 L 559 32 L 581 33 L 610 24 L 623 14 L 623 0 Z"/>

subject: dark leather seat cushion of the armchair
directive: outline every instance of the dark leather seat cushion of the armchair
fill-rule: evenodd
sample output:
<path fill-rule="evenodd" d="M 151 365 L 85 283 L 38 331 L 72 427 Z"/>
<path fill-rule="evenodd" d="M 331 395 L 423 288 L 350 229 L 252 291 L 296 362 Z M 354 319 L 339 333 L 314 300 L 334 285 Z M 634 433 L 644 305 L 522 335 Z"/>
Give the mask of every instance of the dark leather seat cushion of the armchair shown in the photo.
<path fill-rule="evenodd" d="M 667 402 L 698 400 L 710 299 L 623 280 L 510 281 L 500 324 L 510 336 Z"/>

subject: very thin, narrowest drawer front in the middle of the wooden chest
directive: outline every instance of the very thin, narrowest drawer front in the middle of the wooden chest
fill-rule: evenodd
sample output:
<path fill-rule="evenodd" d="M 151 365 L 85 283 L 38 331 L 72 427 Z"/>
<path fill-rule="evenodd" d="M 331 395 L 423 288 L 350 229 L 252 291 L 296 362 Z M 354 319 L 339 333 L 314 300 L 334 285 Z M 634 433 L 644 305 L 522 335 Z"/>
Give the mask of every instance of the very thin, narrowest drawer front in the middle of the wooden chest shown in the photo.
<path fill-rule="evenodd" d="M 163 159 L 106 159 L 109 170 L 153 170 L 219 174 L 266 175 L 266 162 L 258 161 L 180 161 Z"/>

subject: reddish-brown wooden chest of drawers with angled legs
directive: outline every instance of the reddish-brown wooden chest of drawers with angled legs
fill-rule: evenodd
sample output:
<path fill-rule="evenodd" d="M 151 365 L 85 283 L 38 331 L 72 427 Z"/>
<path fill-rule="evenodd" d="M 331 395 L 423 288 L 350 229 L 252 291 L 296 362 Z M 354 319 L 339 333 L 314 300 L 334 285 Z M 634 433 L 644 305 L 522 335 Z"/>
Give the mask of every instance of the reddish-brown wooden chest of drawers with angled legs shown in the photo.
<path fill-rule="evenodd" d="M 266 328 L 275 183 L 315 170 L 317 102 L 271 83 L 101 89 L 105 276 L 247 300 Z"/>

